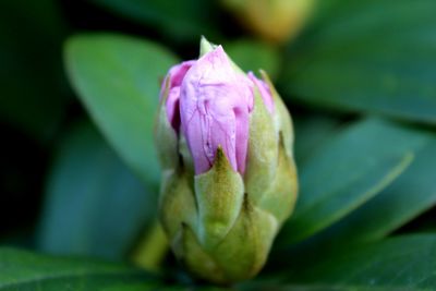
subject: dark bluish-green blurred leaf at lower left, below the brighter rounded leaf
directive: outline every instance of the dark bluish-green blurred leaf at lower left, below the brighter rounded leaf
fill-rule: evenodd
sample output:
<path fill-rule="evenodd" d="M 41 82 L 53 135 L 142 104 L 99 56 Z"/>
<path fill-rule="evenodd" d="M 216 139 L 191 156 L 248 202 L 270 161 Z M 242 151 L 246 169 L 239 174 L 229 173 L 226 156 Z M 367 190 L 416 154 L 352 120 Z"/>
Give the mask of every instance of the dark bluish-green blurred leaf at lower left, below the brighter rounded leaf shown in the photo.
<path fill-rule="evenodd" d="M 156 214 L 157 194 L 89 123 L 58 148 L 46 194 L 38 241 L 49 253 L 120 259 Z"/>

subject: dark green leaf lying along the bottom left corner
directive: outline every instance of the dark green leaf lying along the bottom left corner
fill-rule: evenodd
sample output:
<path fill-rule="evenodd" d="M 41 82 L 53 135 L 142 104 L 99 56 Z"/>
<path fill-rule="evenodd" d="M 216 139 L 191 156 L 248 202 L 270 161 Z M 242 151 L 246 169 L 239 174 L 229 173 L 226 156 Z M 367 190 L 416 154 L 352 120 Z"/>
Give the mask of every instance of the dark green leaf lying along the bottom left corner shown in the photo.
<path fill-rule="evenodd" d="M 111 286 L 142 284 L 144 291 L 155 290 L 152 276 L 124 265 L 90 259 L 52 257 L 0 248 L 0 290 L 96 291 Z M 129 290 L 129 289 L 126 289 Z"/>

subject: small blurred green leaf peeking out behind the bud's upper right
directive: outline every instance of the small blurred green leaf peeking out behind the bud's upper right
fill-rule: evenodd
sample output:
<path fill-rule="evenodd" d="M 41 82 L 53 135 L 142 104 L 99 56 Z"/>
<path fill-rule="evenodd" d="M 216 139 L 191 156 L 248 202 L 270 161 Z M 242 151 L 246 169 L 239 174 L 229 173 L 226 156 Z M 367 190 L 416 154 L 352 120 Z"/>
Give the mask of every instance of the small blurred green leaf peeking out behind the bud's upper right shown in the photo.
<path fill-rule="evenodd" d="M 275 80 L 280 70 L 280 54 L 274 46 L 256 40 L 241 39 L 225 44 L 226 52 L 243 71 L 255 74 L 262 69 Z"/>

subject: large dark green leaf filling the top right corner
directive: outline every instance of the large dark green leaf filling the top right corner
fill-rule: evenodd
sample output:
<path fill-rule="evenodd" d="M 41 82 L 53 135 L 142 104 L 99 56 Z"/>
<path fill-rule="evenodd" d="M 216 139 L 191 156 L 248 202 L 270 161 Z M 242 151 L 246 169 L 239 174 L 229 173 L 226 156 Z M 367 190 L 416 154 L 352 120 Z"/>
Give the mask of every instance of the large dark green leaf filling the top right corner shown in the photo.
<path fill-rule="evenodd" d="M 436 2 L 330 4 L 287 53 L 288 96 L 436 124 Z"/>

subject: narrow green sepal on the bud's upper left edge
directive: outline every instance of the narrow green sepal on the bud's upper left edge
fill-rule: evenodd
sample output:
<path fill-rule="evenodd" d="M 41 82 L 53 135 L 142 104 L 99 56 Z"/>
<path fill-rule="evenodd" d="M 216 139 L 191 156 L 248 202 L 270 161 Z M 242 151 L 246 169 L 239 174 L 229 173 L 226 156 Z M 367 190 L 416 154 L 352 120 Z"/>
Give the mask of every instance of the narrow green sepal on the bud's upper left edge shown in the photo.
<path fill-rule="evenodd" d="M 172 129 L 167 116 L 167 99 L 170 90 L 170 77 L 165 80 L 164 93 L 155 119 L 155 144 L 162 170 L 175 169 L 178 157 L 178 135 Z"/>

